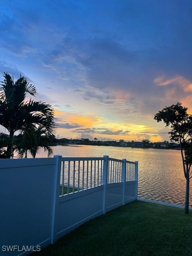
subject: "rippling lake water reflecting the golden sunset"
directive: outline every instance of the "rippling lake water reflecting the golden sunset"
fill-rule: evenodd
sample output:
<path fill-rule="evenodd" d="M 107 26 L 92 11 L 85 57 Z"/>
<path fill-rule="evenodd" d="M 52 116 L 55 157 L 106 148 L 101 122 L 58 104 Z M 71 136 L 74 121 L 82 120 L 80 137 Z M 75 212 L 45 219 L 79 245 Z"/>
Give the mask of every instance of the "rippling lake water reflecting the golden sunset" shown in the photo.
<path fill-rule="evenodd" d="M 174 204 L 184 204 L 185 177 L 179 150 L 122 148 L 111 146 L 67 145 L 53 147 L 63 157 L 126 158 L 139 161 L 138 196 Z M 47 157 L 40 151 L 37 157 Z M 190 186 L 191 189 L 191 186 Z M 190 195 L 190 206 L 192 196 Z"/>

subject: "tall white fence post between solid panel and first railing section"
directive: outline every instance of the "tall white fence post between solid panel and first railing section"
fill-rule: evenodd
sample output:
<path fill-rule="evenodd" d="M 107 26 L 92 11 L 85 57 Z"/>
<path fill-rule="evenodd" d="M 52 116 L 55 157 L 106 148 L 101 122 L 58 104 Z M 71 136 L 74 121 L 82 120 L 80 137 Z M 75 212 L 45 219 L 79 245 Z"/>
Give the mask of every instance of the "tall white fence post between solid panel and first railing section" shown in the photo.
<path fill-rule="evenodd" d="M 54 190 L 53 190 L 53 209 L 52 209 L 52 223 L 51 223 L 51 244 L 57 240 L 57 207 L 60 191 L 60 177 L 61 177 L 61 158 L 60 155 L 55 155 L 55 177 L 54 177 Z"/>

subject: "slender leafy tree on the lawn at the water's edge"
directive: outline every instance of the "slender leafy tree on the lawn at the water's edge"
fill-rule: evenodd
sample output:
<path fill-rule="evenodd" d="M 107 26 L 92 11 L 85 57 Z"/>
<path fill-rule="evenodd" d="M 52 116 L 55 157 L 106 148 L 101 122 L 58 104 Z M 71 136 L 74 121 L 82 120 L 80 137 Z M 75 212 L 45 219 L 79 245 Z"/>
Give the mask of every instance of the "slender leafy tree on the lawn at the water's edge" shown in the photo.
<path fill-rule="evenodd" d="M 192 164 L 192 115 L 187 113 L 187 108 L 180 102 L 159 111 L 154 119 L 157 122 L 163 121 L 170 126 L 171 141 L 180 143 L 183 171 L 186 179 L 185 213 L 189 213 L 189 182 L 192 177 L 190 171 Z"/>

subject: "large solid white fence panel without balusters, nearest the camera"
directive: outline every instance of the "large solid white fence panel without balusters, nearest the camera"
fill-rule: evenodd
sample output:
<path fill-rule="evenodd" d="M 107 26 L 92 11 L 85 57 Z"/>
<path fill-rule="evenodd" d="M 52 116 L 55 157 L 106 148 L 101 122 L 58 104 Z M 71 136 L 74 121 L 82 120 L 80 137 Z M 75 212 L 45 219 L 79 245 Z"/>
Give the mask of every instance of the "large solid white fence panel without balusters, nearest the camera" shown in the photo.
<path fill-rule="evenodd" d="M 55 165 L 54 158 L 0 160 L 1 246 L 51 243 Z"/>

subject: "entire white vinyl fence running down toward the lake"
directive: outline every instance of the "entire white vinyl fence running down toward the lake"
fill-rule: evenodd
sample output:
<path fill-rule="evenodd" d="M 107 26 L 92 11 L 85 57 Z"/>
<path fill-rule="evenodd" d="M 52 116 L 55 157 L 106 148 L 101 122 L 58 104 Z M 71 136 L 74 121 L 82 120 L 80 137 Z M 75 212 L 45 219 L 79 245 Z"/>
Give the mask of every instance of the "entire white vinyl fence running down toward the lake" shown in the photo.
<path fill-rule="evenodd" d="M 45 247 L 136 200 L 137 177 L 137 161 L 108 156 L 0 160 L 0 253 L 2 246 Z"/>

